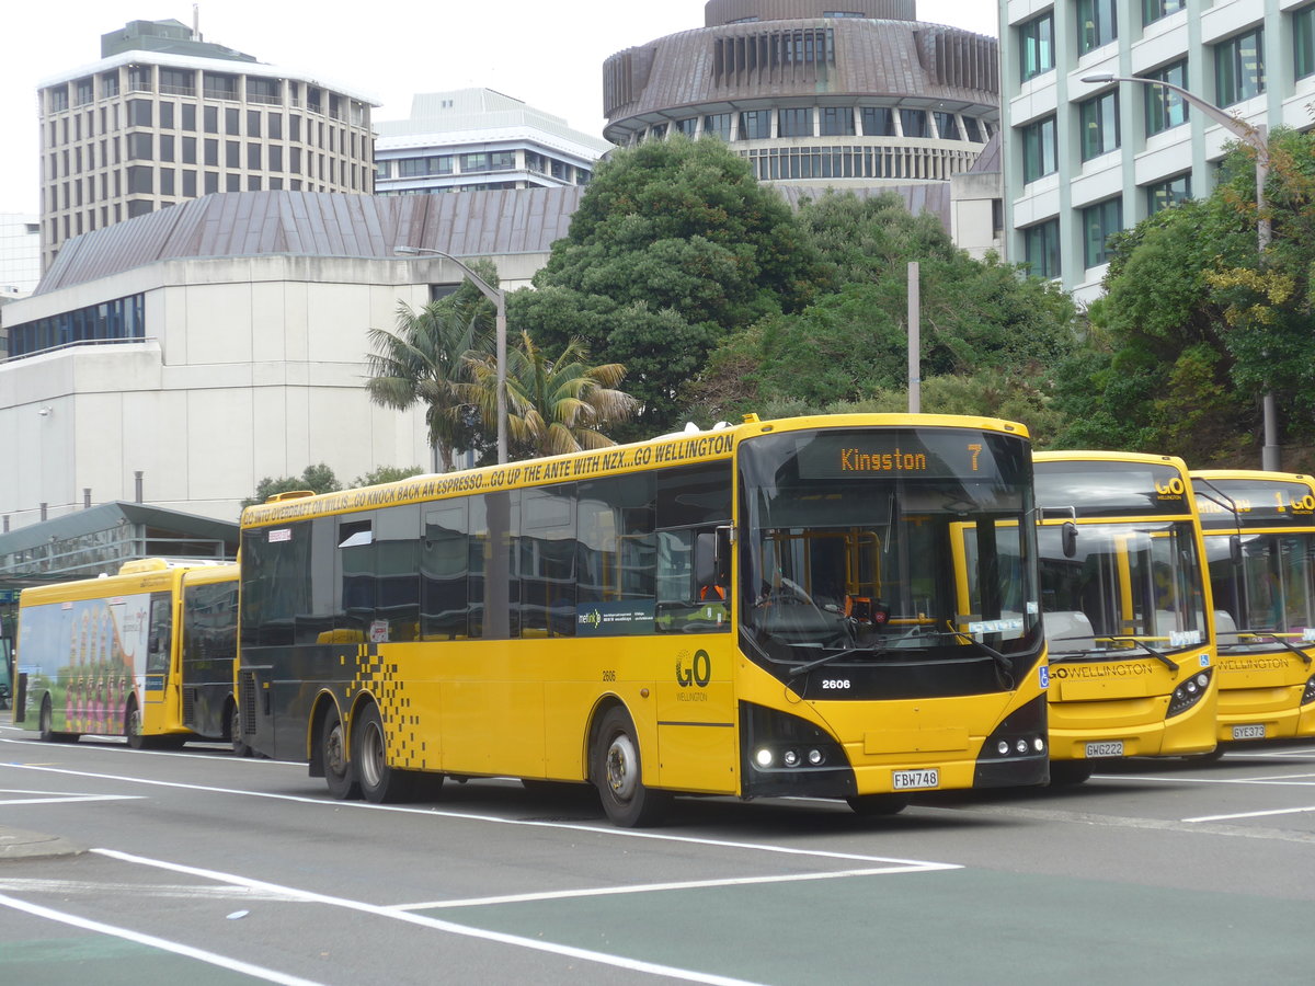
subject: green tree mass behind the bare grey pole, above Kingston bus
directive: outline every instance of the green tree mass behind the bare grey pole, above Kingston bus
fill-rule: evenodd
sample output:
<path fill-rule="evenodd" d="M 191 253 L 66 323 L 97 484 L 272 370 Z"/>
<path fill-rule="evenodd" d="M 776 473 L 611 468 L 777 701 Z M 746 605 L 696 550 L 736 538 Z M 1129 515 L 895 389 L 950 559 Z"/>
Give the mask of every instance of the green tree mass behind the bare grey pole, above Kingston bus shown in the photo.
<path fill-rule="evenodd" d="M 769 316 L 726 339 L 684 390 L 694 419 L 761 414 L 782 401 L 818 411 L 903 393 L 911 260 L 919 263 L 924 393 L 936 377 L 993 372 L 977 387 L 982 394 L 1003 380 L 1018 400 L 1039 396 L 1074 346 L 1076 313 L 1065 294 L 994 258 L 972 259 L 936 220 L 910 216 L 896 196 L 828 193 L 800 216 L 847 283 L 800 313 Z M 899 402 L 907 406 L 907 397 Z M 935 410 L 926 398 L 923 406 Z"/>

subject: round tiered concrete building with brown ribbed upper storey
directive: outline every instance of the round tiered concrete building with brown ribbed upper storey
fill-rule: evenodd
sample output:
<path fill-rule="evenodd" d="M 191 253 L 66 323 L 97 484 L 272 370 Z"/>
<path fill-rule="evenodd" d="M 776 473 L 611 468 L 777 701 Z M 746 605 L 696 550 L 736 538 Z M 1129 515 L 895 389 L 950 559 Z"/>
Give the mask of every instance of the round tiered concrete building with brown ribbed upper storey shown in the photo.
<path fill-rule="evenodd" d="M 709 0 L 705 26 L 604 64 L 604 137 L 715 134 L 763 181 L 948 181 L 999 120 L 997 41 L 915 0 Z"/>

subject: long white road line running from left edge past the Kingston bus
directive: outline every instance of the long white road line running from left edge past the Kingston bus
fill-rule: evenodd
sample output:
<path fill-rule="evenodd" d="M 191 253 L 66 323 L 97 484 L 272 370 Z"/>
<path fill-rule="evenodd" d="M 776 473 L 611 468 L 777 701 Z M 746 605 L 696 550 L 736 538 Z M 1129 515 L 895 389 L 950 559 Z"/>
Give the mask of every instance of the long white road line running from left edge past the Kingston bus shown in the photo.
<path fill-rule="evenodd" d="M 334 801 L 331 798 L 308 798 L 296 794 L 272 794 L 268 791 L 249 791 L 237 787 L 212 787 L 200 784 L 181 784 L 179 781 L 155 781 L 145 777 L 124 777 L 120 774 L 97 774 L 88 773 L 85 770 L 70 770 L 67 768 L 57 766 L 37 766 L 32 764 L 0 764 L 0 769 L 12 768 L 16 770 L 36 770 L 39 773 L 53 773 L 63 774 L 71 777 L 92 778 L 97 781 L 122 781 L 125 784 L 141 784 L 151 787 L 172 787 L 178 790 L 189 791 L 205 791 L 209 794 L 235 794 L 246 798 L 270 798 L 274 801 L 285 801 L 300 805 L 318 805 L 321 807 L 330 807 L 334 810 L 351 809 L 359 811 L 396 811 L 401 814 L 412 815 L 427 815 L 431 818 L 451 818 L 460 822 L 489 822 L 494 824 L 504 826 L 525 826 L 530 828 L 555 828 L 568 832 L 589 832 L 593 835 L 604 835 L 615 839 L 651 839 L 663 843 L 685 843 L 693 845 L 710 845 L 719 849 L 746 849 L 750 852 L 768 852 L 780 853 L 784 856 L 807 856 L 811 858 L 825 858 L 825 860 L 849 860 L 856 862 L 877 862 L 884 865 L 897 865 L 909 866 L 917 870 L 922 869 L 960 869 L 957 864 L 953 862 L 931 862 L 927 860 L 903 860 L 890 856 L 868 856 L 863 853 L 851 852 L 828 852 L 825 849 L 803 849 L 798 847 L 789 845 L 771 845 L 767 843 L 739 843 L 730 841 L 725 839 L 700 839 L 697 836 L 688 835 L 672 835 L 664 832 L 638 832 L 631 828 L 614 828 L 611 826 L 592 826 L 592 824 L 577 824 L 572 822 L 544 822 L 540 819 L 517 819 L 517 818 L 498 818 L 497 815 L 481 815 L 469 811 L 447 811 L 431 807 L 406 807 L 405 805 L 371 805 L 362 801 Z"/>

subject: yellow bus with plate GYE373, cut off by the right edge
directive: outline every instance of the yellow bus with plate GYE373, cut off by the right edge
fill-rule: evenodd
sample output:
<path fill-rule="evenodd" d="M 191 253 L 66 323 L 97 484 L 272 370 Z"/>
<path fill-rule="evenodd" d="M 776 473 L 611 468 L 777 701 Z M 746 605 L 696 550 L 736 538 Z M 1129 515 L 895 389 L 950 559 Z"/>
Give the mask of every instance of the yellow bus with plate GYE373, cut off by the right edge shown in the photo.
<path fill-rule="evenodd" d="M 1220 743 L 1315 736 L 1315 480 L 1194 471 L 1219 634 Z"/>

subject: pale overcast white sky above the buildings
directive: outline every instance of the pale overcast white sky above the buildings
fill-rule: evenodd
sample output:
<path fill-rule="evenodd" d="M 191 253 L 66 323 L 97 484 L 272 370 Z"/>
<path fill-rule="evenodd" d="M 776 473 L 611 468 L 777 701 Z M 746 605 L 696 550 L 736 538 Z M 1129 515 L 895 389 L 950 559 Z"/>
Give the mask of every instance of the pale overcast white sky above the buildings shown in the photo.
<path fill-rule="evenodd" d="M 32 0 L 5 5 L 0 55 L 0 213 L 38 212 L 37 85 L 100 59 L 100 35 L 133 20 L 192 24 L 178 0 Z M 205 41 L 377 99 L 410 114 L 417 92 L 488 87 L 602 133 L 602 63 L 622 49 L 704 26 L 704 0 L 205 0 Z M 918 0 L 918 18 L 995 35 L 992 0 Z M 488 20 L 485 14 L 494 16 Z"/>

